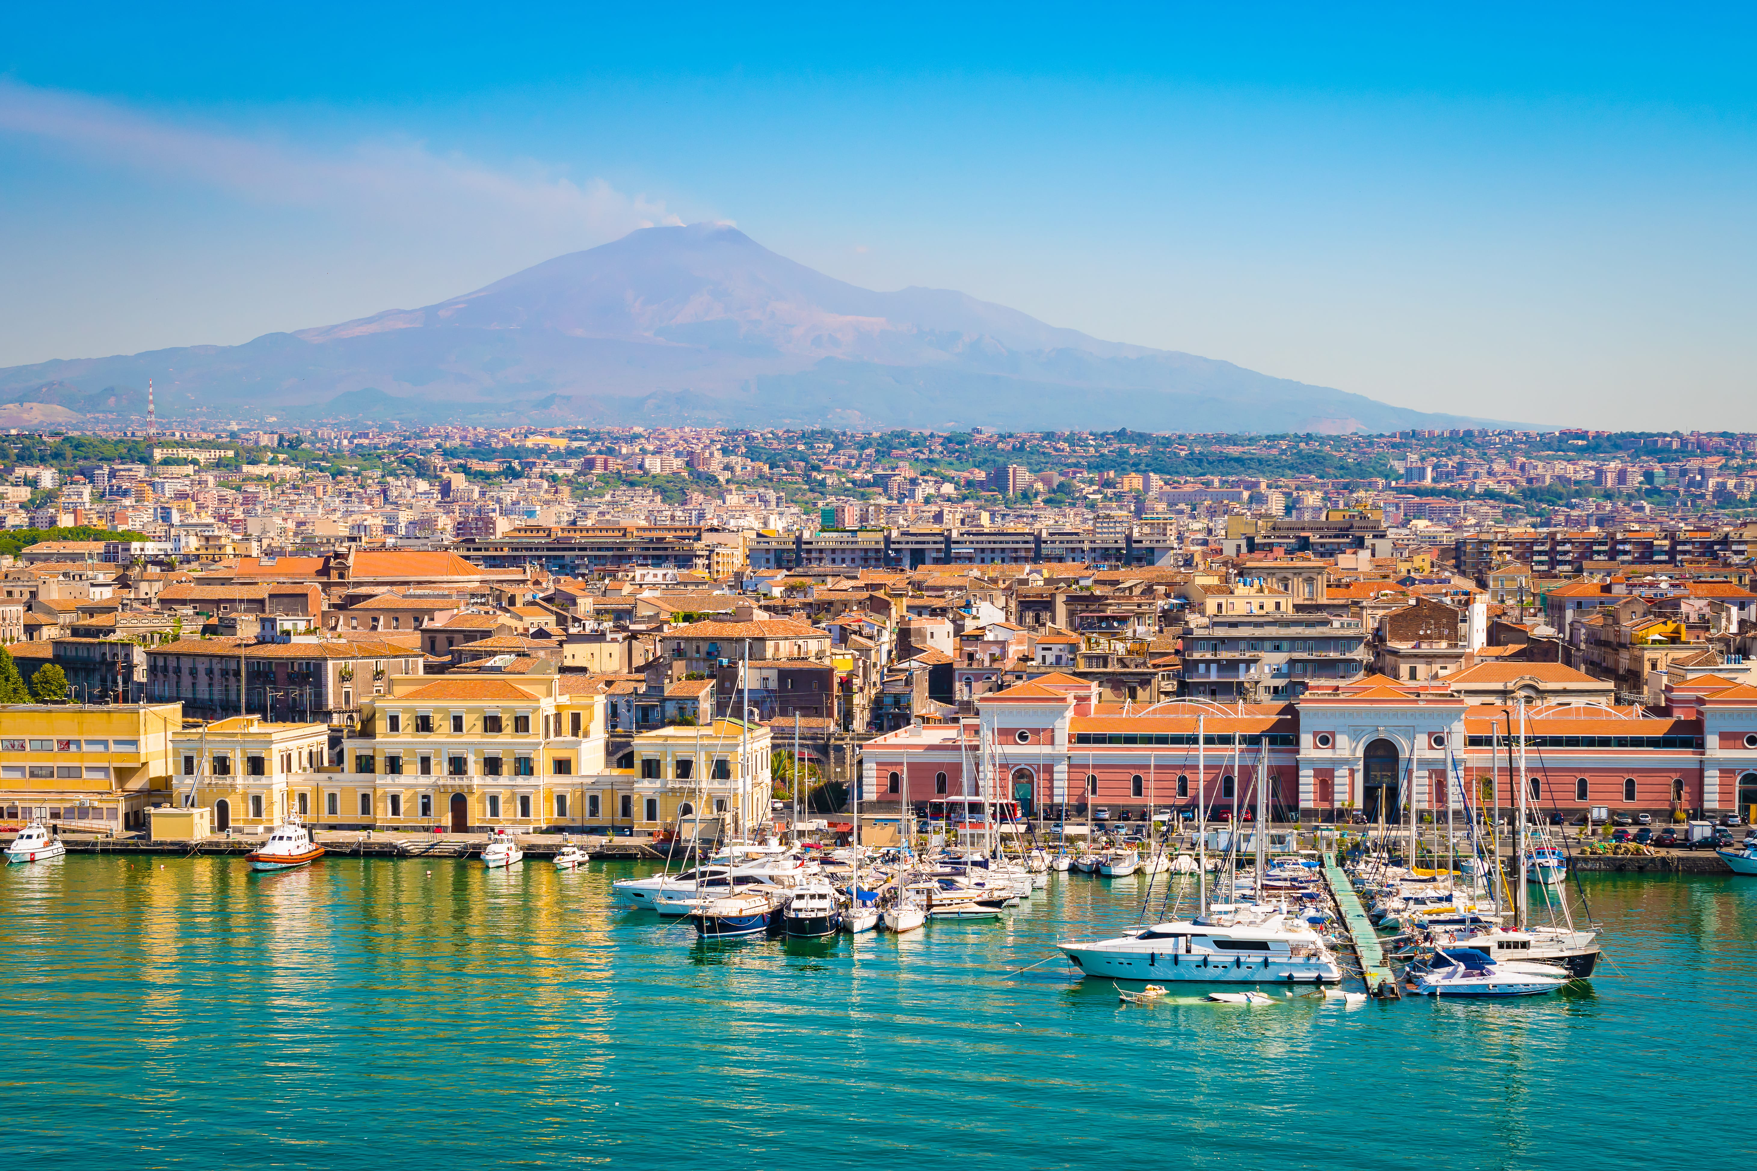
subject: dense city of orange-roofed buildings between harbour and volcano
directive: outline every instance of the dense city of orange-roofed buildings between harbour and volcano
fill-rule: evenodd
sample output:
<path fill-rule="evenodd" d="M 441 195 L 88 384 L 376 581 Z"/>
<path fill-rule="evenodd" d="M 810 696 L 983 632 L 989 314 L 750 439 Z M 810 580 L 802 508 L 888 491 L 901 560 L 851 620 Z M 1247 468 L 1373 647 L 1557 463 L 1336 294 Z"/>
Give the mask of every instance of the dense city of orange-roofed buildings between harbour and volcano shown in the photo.
<path fill-rule="evenodd" d="M 1569 772 L 1558 815 L 1715 816 L 1757 806 L 1753 458 L 1608 432 L 14 432 L 0 641 L 37 702 L 0 806 L 144 829 L 199 776 L 216 829 L 652 836 L 703 776 L 748 827 L 782 772 L 926 806 L 984 757 L 1038 813 L 1262 774 L 1276 816 L 1337 822 L 1500 767 L 1516 713 Z M 1249 758 L 1191 795 L 1198 741 Z"/>

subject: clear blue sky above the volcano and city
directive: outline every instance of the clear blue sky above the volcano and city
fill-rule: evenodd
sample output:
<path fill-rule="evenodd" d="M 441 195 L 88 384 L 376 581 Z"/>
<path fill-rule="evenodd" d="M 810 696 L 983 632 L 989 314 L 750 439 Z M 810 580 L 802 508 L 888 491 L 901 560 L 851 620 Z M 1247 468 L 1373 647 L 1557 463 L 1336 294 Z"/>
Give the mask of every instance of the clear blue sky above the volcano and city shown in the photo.
<path fill-rule="evenodd" d="M 1757 430 L 1753 49 L 1715 5 L 7 5 L 0 365 L 720 219 L 1397 406 Z"/>

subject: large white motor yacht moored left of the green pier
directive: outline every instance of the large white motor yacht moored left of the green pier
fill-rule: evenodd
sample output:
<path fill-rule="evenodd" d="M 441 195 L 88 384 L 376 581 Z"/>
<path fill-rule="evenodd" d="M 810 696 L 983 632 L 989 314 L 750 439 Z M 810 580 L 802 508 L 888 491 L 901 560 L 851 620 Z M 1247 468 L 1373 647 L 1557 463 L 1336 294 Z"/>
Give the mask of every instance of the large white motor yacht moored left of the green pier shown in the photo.
<path fill-rule="evenodd" d="M 1218 909 L 1218 908 L 1216 908 Z M 1086 976 L 1105 980 L 1202 980 L 1212 983 L 1335 983 L 1342 966 L 1305 923 L 1265 915 L 1154 923 L 1112 939 L 1056 945 Z"/>

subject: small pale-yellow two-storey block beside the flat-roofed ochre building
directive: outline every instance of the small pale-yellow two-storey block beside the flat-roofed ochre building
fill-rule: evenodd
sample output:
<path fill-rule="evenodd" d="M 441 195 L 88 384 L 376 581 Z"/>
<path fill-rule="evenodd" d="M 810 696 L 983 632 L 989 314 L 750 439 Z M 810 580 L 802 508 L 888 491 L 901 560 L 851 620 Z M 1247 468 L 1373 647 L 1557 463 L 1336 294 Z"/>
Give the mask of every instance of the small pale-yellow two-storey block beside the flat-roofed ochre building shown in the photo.
<path fill-rule="evenodd" d="M 325 792 L 329 725 L 232 716 L 172 737 L 174 806 L 211 809 L 213 830 L 264 832 L 288 815 L 306 823 Z"/>

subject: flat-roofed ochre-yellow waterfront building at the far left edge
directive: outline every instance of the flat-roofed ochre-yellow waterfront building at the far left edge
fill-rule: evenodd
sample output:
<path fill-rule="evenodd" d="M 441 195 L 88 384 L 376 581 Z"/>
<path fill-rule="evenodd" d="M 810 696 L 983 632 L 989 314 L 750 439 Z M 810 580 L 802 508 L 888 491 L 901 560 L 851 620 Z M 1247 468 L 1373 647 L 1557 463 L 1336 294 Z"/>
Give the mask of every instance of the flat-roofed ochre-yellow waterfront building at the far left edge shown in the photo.
<path fill-rule="evenodd" d="M 170 795 L 181 704 L 9 704 L 0 708 L 0 809 L 79 829 L 146 827 Z"/>

